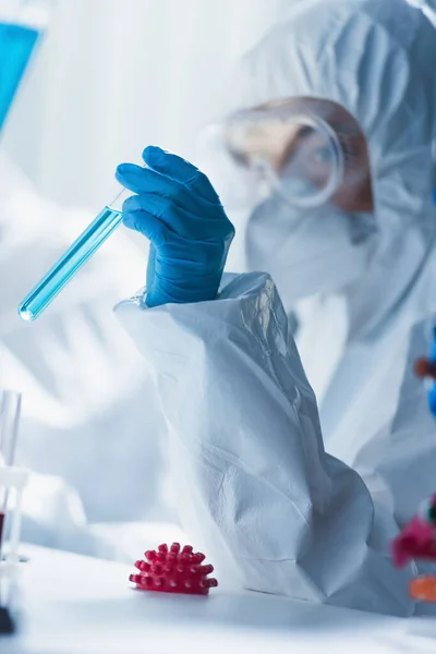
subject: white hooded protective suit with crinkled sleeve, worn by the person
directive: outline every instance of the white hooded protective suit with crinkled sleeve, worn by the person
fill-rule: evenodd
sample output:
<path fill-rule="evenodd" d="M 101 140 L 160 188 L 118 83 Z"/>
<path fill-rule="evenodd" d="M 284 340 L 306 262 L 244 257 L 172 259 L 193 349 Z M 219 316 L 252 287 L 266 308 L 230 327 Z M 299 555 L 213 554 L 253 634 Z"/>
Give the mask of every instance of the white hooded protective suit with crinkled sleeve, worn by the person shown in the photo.
<path fill-rule="evenodd" d="M 225 277 L 214 302 L 149 310 L 138 295 L 117 307 L 155 371 L 183 525 L 221 580 L 364 610 L 415 610 L 408 581 L 416 570 L 396 570 L 389 543 L 424 486 L 434 491 L 434 475 L 419 484 L 407 470 L 436 463 L 436 438 L 425 450 L 412 432 L 397 443 L 392 424 L 414 356 L 413 325 L 436 310 L 435 56 L 434 28 L 403 0 L 307 0 L 249 53 L 234 86 L 241 108 L 289 97 L 335 101 L 367 140 L 376 246 L 342 293 L 341 348 L 332 348 L 335 331 L 329 340 L 328 301 L 302 325 L 302 341 L 312 334 L 312 351 L 302 352 L 307 373 L 311 358 L 337 350 L 319 414 L 269 275 Z M 256 233 L 249 221 L 249 263 Z M 254 258 L 263 255 L 269 270 L 270 257 L 284 298 L 288 279 L 298 287 L 294 255 L 305 246 L 323 284 L 335 278 L 342 253 L 328 230 L 322 267 L 308 231 L 295 243 L 271 213 L 269 233 Z M 289 259 L 282 272 L 278 241 Z M 427 411 L 425 400 L 409 409 L 416 419 Z"/>

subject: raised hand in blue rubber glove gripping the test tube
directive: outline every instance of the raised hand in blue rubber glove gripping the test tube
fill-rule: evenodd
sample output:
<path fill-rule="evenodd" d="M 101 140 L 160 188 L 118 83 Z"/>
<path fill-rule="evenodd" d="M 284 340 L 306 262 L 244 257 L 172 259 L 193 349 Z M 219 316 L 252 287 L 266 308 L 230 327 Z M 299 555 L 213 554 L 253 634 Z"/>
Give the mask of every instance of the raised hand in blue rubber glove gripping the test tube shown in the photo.
<path fill-rule="evenodd" d="M 214 300 L 234 228 L 197 168 L 159 147 L 146 147 L 146 168 L 121 164 L 117 179 L 136 195 L 123 205 L 124 225 L 150 241 L 147 306 Z"/>

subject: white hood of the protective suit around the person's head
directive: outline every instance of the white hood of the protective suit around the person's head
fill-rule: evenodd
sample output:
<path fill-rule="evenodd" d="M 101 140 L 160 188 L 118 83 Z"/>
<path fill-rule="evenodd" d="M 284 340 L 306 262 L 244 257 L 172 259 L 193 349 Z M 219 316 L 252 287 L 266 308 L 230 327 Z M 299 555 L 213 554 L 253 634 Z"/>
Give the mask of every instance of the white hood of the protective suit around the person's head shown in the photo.
<path fill-rule="evenodd" d="M 434 251 L 435 60 L 433 25 L 404 0 L 307 0 L 245 56 L 232 86 L 232 110 L 330 100 L 366 137 L 378 233 L 367 274 L 348 292 L 351 337 L 375 338 L 395 318 Z"/>

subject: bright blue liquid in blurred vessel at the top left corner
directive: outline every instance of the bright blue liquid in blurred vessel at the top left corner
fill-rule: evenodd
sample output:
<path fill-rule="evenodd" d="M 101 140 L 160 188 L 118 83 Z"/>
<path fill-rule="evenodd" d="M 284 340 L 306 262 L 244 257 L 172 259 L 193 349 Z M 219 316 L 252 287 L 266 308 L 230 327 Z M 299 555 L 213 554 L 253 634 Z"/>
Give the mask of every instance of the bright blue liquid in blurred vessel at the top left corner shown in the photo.
<path fill-rule="evenodd" d="M 0 23 L 0 130 L 38 36 L 32 27 Z"/>

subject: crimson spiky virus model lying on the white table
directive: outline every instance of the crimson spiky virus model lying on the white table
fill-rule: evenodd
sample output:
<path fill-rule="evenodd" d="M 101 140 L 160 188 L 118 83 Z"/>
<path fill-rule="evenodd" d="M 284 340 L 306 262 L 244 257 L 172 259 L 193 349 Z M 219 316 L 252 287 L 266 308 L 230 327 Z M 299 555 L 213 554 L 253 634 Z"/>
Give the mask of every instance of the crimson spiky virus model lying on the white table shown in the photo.
<path fill-rule="evenodd" d="M 181 593 L 184 595 L 207 595 L 218 582 L 208 574 L 214 566 L 203 566 L 205 555 L 193 553 L 191 545 L 180 548 L 179 543 L 159 545 L 157 552 L 145 553 L 146 560 L 135 562 L 138 573 L 131 574 L 129 581 L 142 591 Z"/>

